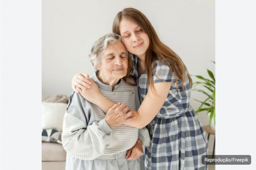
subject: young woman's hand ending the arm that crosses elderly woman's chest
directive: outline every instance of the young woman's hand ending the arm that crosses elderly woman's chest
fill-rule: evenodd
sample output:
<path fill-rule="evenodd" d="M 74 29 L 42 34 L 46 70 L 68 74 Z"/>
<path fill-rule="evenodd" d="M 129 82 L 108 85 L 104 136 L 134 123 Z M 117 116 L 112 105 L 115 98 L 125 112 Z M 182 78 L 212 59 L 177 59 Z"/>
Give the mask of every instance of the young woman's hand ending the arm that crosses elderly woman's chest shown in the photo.
<path fill-rule="evenodd" d="M 90 101 L 91 103 L 95 103 L 95 100 L 101 95 L 99 86 L 93 81 L 88 80 L 91 83 L 90 89 L 80 89 L 76 87 L 76 89 L 79 91 L 79 94 L 81 94 L 87 101 Z"/>

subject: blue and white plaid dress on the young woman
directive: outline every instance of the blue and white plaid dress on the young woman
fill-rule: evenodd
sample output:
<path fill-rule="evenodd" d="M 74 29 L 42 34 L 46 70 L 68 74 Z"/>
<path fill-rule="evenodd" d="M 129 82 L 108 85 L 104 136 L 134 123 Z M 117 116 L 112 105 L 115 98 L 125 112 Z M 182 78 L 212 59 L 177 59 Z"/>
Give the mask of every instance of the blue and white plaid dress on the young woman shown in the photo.
<path fill-rule="evenodd" d="M 131 74 L 137 79 L 141 97 L 144 99 L 148 92 L 147 74 L 144 71 L 138 79 L 138 57 L 133 55 L 132 62 Z M 148 170 L 208 169 L 207 165 L 201 163 L 201 157 L 208 153 L 208 141 L 201 123 L 189 105 L 191 89 L 188 77 L 186 76 L 184 82 L 183 93 L 180 79 L 178 79 L 178 89 L 175 91 L 176 79 L 167 65 L 156 61 L 153 69 L 160 79 L 158 80 L 153 72 L 154 83 L 173 83 L 164 105 L 148 125 L 151 143 L 145 148 L 145 168 Z"/>

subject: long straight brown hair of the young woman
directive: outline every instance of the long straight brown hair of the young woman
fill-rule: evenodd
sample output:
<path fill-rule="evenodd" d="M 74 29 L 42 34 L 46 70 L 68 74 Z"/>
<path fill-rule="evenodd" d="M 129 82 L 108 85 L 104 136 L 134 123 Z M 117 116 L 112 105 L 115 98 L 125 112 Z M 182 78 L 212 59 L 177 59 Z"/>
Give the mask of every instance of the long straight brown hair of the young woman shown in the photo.
<path fill-rule="evenodd" d="M 163 64 L 166 64 L 170 67 L 171 71 L 175 75 L 175 79 L 177 80 L 177 77 L 181 80 L 182 89 L 185 91 L 184 88 L 184 82 L 186 80 L 186 71 L 187 68 L 185 64 L 182 62 L 181 58 L 173 52 L 173 50 L 166 45 L 164 45 L 160 39 L 157 36 L 157 33 L 149 20 L 146 18 L 145 15 L 143 15 L 140 11 L 134 9 L 134 8 L 125 8 L 123 11 L 118 12 L 118 14 L 115 17 L 114 23 L 113 23 L 113 32 L 117 35 L 121 35 L 119 31 L 119 23 L 122 19 L 132 20 L 136 22 L 141 29 L 147 33 L 149 37 L 149 47 L 146 51 L 145 55 L 145 68 L 148 78 L 148 85 L 151 87 L 151 90 L 154 89 L 153 84 L 153 69 L 152 69 L 152 63 L 154 64 L 153 67 L 155 67 L 155 62 L 160 61 Z M 163 60 L 161 60 L 163 58 Z M 170 66 L 171 64 L 171 66 Z M 192 79 L 190 78 L 190 75 L 187 71 L 188 79 L 190 82 L 190 86 L 193 86 Z M 157 75 L 156 75 L 157 77 Z M 158 78 L 158 77 L 157 77 Z M 178 81 L 176 81 L 178 88 Z"/>

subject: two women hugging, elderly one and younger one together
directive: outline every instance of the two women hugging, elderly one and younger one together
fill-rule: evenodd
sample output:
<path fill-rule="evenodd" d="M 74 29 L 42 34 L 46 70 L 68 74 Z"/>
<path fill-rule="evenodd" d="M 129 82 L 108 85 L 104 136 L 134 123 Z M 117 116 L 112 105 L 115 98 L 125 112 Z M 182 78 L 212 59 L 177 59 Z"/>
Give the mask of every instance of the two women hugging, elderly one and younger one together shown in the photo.
<path fill-rule="evenodd" d="M 145 15 L 117 13 L 89 57 L 96 71 L 74 76 L 63 122 L 67 170 L 208 169 L 189 72 Z"/>

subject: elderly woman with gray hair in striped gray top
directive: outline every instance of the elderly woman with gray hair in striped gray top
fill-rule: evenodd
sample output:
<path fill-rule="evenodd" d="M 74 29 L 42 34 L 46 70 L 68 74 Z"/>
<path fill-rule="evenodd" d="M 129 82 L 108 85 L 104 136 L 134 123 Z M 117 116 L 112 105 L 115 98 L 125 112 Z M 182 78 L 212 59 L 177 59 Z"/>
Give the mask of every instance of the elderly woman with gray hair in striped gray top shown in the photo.
<path fill-rule="evenodd" d="M 66 170 L 145 169 L 140 155 L 133 160 L 125 158 L 127 150 L 138 141 L 149 146 L 150 137 L 146 128 L 126 125 L 135 119 L 129 108 L 137 110 L 141 98 L 135 81 L 129 78 L 131 61 L 121 37 L 114 33 L 101 37 L 94 43 L 89 56 L 97 69 L 90 77 L 91 82 L 98 85 L 103 96 L 118 104 L 105 114 L 83 98 L 83 93 L 90 91 L 71 94 L 62 134 L 62 144 L 67 151 Z M 119 106 L 123 112 L 116 111 Z"/>

